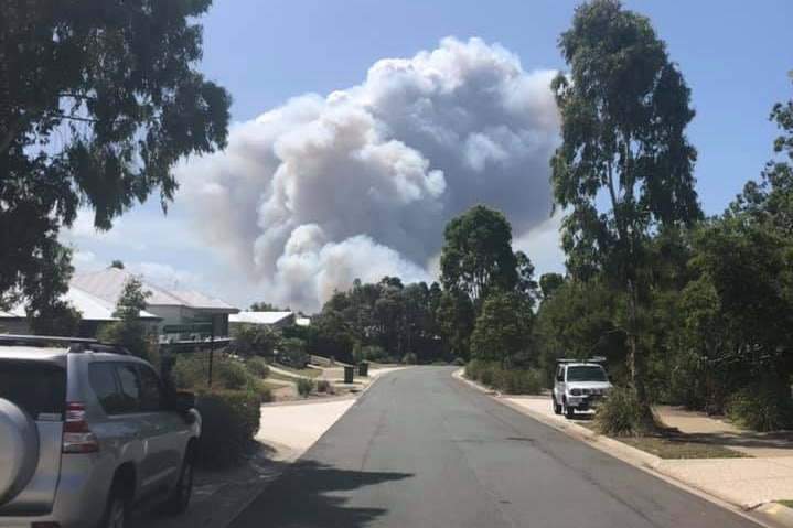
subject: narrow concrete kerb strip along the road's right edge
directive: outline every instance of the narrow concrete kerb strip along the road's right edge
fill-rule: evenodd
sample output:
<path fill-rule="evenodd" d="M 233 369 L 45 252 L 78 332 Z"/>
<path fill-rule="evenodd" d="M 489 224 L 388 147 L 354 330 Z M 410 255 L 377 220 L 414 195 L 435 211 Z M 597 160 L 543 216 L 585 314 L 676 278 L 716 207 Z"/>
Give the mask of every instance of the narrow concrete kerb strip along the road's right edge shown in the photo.
<path fill-rule="evenodd" d="M 786 506 L 782 506 L 776 503 L 768 503 L 754 505 L 750 508 L 747 508 L 740 504 L 731 502 L 726 497 L 721 497 L 718 494 L 714 494 L 712 492 L 709 492 L 707 489 L 694 486 L 684 481 L 679 481 L 674 476 L 667 475 L 663 472 L 663 459 L 655 456 L 654 454 L 647 453 L 646 451 L 642 451 L 640 449 L 622 443 L 619 440 L 614 440 L 603 434 L 598 434 L 597 432 L 581 427 L 577 423 L 565 423 L 548 420 L 546 416 L 539 412 L 535 412 L 532 409 L 527 409 L 523 406 L 518 406 L 506 399 L 503 399 L 500 392 L 483 387 L 475 381 L 467 379 L 463 376 L 464 371 L 464 368 L 456 370 L 452 374 L 452 377 L 458 381 L 463 382 L 475 390 L 479 390 L 480 392 L 484 392 L 501 405 L 506 406 L 523 414 L 526 414 L 539 422 L 543 422 L 551 429 L 556 429 L 557 431 L 560 431 L 568 437 L 572 437 L 581 442 L 585 442 L 592 448 L 600 450 L 607 454 L 610 454 L 611 456 L 619 459 L 626 464 L 637 467 L 646 473 L 650 473 L 655 477 L 661 478 L 662 481 L 673 484 L 693 495 L 696 495 L 710 503 L 721 506 L 722 508 L 729 509 L 735 514 L 740 515 L 741 517 L 757 522 L 765 528 L 793 528 L 793 509 L 787 508 Z"/>

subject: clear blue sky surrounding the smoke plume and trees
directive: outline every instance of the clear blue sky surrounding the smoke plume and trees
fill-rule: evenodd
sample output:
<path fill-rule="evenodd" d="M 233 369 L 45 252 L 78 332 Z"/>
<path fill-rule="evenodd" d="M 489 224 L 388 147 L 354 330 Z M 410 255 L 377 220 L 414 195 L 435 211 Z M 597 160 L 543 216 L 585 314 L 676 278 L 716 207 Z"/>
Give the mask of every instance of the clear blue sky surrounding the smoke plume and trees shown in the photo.
<path fill-rule="evenodd" d="M 526 71 L 564 69 L 556 42 L 577 3 L 216 0 L 203 20 L 201 69 L 232 93 L 235 121 L 253 119 L 304 93 L 324 96 L 357 85 L 374 62 L 411 57 L 449 35 L 501 43 L 519 56 Z M 793 67 L 793 2 L 625 4 L 651 18 L 692 88 L 697 117 L 689 137 L 699 151 L 697 188 L 705 212 L 719 213 L 770 157 L 775 133 L 767 120 L 771 105 L 793 96 L 785 75 Z M 106 235 L 93 233 L 86 222 L 77 226 L 67 240 L 82 252 L 78 269 L 121 258 L 161 282 L 181 280 L 240 304 L 251 301 L 249 289 L 239 287 L 196 237 L 184 207 L 176 203 L 163 218 L 154 202 L 125 216 Z M 546 270 L 561 266 L 558 251 L 535 260 Z"/>

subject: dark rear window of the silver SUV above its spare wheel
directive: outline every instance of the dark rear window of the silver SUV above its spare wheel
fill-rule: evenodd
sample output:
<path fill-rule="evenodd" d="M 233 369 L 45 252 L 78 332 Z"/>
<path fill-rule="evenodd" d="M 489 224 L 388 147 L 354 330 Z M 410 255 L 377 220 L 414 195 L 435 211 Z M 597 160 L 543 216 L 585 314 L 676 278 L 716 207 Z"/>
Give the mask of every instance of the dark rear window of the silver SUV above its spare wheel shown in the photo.
<path fill-rule="evenodd" d="M 66 407 L 66 369 L 0 359 L 0 398 L 15 403 L 33 420 L 61 420 Z"/>

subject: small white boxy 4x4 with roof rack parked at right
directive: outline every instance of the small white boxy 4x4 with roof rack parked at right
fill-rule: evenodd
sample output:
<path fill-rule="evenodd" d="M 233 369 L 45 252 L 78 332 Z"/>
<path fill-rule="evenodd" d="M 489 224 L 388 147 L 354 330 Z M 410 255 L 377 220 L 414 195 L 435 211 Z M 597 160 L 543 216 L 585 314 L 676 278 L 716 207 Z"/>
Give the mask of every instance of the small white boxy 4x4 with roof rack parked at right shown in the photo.
<path fill-rule="evenodd" d="M 589 410 L 606 396 L 611 382 L 600 363 L 600 359 L 557 359 L 551 392 L 554 413 L 572 418 L 577 410 Z"/>

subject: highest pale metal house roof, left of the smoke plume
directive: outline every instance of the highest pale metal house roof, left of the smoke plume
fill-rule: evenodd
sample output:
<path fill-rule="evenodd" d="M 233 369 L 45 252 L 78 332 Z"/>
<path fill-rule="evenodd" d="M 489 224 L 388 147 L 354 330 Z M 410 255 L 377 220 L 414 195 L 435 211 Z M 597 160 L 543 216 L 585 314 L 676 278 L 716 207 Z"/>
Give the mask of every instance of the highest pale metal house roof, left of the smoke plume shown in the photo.
<path fill-rule="evenodd" d="M 115 303 L 121 294 L 124 285 L 132 278 L 140 280 L 143 283 L 143 289 L 151 292 L 151 295 L 146 300 L 150 306 L 186 306 L 193 310 L 226 313 L 236 313 L 238 311 L 219 299 L 189 290 L 171 292 L 147 282 L 144 278 L 136 277 L 118 268 L 107 268 L 94 273 L 75 276 L 72 279 L 72 284 L 105 301 Z"/>

